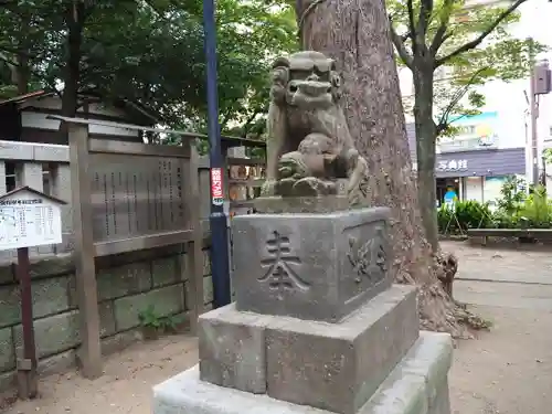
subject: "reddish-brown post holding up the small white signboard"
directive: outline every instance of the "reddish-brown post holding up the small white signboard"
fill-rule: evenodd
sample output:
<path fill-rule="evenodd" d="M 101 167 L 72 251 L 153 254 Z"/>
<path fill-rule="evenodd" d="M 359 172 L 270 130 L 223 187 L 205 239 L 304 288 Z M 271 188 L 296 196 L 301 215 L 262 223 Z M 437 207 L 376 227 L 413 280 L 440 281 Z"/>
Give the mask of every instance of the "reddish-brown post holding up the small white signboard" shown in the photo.
<path fill-rule="evenodd" d="M 23 326 L 23 358 L 18 359 L 19 396 L 34 399 L 38 394 L 38 380 L 29 247 L 18 248 L 17 275 L 21 294 L 21 323 Z"/>

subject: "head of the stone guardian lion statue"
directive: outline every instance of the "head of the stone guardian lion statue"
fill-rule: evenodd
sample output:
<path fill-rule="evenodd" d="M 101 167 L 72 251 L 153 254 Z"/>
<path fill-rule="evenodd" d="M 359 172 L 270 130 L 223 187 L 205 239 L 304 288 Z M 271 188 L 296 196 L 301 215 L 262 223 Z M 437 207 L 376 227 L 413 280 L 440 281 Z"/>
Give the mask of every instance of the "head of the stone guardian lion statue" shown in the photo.
<path fill-rule="evenodd" d="M 338 99 L 341 78 L 333 60 L 320 52 L 297 52 L 273 64 L 272 98 L 305 109 L 328 108 Z"/>

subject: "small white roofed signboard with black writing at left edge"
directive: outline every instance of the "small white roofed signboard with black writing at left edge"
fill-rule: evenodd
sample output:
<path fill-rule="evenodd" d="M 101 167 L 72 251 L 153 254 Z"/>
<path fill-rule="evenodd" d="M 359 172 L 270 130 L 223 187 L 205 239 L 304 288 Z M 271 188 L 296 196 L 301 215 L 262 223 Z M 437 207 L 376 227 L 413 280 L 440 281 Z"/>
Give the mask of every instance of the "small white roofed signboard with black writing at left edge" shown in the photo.
<path fill-rule="evenodd" d="M 0 251 L 62 243 L 65 202 L 28 187 L 0 197 Z"/>

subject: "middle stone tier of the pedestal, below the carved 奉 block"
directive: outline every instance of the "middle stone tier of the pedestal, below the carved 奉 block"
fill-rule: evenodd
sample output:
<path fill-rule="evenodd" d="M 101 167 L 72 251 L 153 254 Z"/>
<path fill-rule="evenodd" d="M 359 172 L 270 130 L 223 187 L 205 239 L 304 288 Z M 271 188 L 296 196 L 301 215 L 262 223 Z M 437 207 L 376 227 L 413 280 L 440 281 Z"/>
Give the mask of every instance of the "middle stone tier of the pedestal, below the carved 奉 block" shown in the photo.
<path fill-rule="evenodd" d="M 237 311 L 200 317 L 201 379 L 352 414 L 418 337 L 416 289 L 395 285 L 340 323 Z"/>

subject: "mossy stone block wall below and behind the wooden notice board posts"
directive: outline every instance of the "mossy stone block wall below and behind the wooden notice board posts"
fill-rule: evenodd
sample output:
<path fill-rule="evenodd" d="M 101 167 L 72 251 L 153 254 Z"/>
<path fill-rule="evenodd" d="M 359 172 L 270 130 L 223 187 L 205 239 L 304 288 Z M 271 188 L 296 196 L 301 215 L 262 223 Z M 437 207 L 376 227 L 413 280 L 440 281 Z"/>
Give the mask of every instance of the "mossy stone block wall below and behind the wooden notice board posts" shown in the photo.
<path fill-rule="evenodd" d="M 213 289 L 209 251 L 203 251 L 203 301 Z M 96 261 L 103 353 L 139 340 L 138 314 L 149 305 L 162 316 L 185 315 L 189 255 L 182 246 L 132 252 Z M 76 363 L 78 304 L 71 255 L 36 259 L 31 265 L 34 332 L 39 372 L 47 374 Z M 12 263 L 0 263 L 0 391 L 15 378 L 22 352 L 21 301 Z"/>

